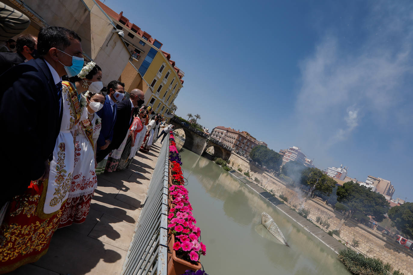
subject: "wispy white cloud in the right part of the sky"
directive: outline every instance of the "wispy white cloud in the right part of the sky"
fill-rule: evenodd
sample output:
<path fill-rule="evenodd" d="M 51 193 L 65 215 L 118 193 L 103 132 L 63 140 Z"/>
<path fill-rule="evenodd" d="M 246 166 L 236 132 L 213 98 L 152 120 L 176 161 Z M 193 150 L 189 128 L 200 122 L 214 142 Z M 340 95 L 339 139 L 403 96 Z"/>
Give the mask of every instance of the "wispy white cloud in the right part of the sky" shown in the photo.
<path fill-rule="evenodd" d="M 384 128 L 395 116 L 411 116 L 411 108 L 399 107 L 411 91 L 412 18 L 411 5 L 372 2 L 360 26 L 369 34 L 357 47 L 330 30 L 301 62 L 295 113 L 309 143 L 333 146 L 365 123 Z"/>

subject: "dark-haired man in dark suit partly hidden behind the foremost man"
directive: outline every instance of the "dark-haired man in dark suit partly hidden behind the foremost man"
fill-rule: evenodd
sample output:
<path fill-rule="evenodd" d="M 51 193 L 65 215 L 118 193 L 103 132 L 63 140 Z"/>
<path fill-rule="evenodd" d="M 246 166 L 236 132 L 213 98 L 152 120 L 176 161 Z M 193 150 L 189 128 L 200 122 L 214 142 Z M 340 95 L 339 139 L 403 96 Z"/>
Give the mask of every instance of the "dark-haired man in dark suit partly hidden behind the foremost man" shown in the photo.
<path fill-rule="evenodd" d="M 37 38 L 31 34 L 23 34 L 16 41 L 17 52 L 0 52 L 0 75 L 9 68 L 36 58 Z"/>

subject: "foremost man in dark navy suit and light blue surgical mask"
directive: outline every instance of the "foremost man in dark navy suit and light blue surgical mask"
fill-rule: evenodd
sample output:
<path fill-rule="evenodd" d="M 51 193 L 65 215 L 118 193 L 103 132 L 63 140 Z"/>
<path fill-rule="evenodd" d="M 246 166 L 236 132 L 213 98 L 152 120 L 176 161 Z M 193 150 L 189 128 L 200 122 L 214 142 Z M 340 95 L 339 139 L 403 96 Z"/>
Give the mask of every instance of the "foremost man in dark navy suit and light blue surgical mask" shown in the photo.
<path fill-rule="evenodd" d="M 81 38 L 62 27 L 42 28 L 40 58 L 10 68 L 0 75 L 2 171 L 12 179 L 2 185 L 0 207 L 25 192 L 32 180 L 49 176 L 49 161 L 62 121 L 62 76 L 72 56 L 82 56 Z M 12 138 L 11 138 L 12 137 Z"/>

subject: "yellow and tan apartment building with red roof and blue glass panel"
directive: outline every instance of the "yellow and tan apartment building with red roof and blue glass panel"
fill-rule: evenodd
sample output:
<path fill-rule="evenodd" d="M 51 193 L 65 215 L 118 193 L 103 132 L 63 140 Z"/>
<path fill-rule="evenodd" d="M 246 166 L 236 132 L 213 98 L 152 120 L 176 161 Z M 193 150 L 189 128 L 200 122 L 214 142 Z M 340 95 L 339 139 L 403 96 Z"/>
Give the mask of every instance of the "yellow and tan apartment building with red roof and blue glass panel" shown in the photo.
<path fill-rule="evenodd" d="M 116 29 L 124 33 L 130 59 L 119 80 L 125 83 L 125 90 L 141 89 L 145 92 L 145 105 L 152 106 L 165 118 L 172 118 L 171 106 L 183 87 L 185 73 L 176 66 L 171 54 L 161 50 L 159 40 L 130 22 L 123 12 L 118 14 L 99 0 L 96 2 L 109 15 Z"/>

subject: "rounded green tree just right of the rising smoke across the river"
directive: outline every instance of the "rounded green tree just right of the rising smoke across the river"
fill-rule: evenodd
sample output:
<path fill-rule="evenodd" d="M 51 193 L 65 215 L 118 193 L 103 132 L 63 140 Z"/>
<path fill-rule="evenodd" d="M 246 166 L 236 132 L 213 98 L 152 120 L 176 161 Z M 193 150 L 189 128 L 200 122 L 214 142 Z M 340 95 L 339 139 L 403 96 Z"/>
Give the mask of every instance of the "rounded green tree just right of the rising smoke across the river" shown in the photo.
<path fill-rule="evenodd" d="M 315 191 L 324 195 L 330 195 L 336 182 L 320 169 L 312 167 L 301 172 L 301 184 L 310 186 L 311 195 Z"/>

